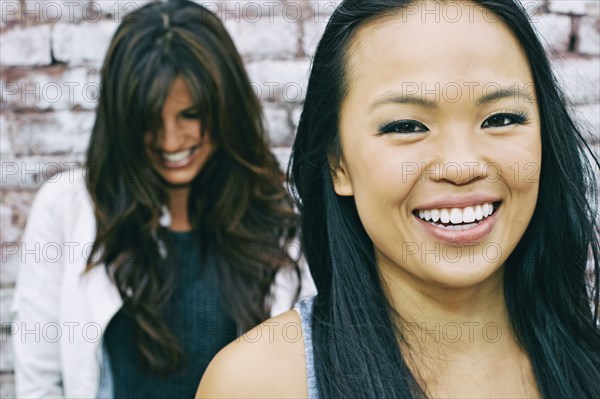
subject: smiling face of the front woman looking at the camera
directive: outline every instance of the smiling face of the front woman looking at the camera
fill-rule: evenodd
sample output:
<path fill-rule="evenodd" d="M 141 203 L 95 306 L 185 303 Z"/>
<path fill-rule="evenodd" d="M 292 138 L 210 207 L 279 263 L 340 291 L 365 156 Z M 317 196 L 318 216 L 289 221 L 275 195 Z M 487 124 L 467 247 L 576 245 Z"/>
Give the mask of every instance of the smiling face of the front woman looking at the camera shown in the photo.
<path fill-rule="evenodd" d="M 428 2 L 358 30 L 334 185 L 354 196 L 380 269 L 458 288 L 499 276 L 525 232 L 541 138 L 518 41 L 491 13 L 456 5 L 458 20 Z"/>

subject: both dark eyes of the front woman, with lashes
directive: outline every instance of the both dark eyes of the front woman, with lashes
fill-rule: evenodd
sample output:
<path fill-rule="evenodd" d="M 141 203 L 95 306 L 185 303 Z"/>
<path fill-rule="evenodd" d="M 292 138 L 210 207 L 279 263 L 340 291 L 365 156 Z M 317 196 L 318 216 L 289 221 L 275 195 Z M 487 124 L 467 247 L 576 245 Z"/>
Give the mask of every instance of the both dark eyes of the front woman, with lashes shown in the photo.
<path fill-rule="evenodd" d="M 482 129 L 495 129 L 511 125 L 526 125 L 529 123 L 529 115 L 525 111 L 502 111 L 487 117 L 481 124 Z M 414 119 L 401 119 L 387 121 L 378 126 L 378 135 L 416 134 L 428 132 L 427 126 Z"/>

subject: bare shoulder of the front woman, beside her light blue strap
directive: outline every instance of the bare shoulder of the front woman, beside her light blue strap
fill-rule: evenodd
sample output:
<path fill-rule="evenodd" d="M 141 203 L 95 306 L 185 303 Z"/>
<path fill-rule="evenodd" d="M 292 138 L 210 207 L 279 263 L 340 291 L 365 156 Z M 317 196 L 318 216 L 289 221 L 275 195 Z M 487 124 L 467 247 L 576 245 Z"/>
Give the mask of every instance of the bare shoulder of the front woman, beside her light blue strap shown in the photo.
<path fill-rule="evenodd" d="M 295 310 L 265 321 L 217 354 L 196 398 L 225 397 L 307 397 L 304 340 Z"/>

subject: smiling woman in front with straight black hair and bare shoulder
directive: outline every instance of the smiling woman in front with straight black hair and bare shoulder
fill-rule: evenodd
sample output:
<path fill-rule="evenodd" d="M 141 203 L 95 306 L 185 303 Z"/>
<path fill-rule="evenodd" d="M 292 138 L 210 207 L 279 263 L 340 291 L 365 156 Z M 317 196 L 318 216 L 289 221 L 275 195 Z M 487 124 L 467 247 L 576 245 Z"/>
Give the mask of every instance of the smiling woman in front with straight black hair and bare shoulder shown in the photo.
<path fill-rule="evenodd" d="M 342 2 L 291 165 L 319 293 L 197 397 L 600 397 L 600 165 L 565 103 L 517 1 Z"/>

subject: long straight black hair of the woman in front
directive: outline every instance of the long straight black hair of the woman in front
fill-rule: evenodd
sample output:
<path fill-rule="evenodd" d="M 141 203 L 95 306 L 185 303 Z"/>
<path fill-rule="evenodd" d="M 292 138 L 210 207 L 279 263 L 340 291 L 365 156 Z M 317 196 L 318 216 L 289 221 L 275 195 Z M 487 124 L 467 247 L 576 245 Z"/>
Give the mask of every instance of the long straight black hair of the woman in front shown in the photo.
<path fill-rule="evenodd" d="M 347 51 L 360 26 L 410 0 L 346 0 L 318 45 L 288 170 L 302 243 L 319 295 L 313 343 L 321 397 L 425 397 L 403 359 L 403 337 L 384 295 L 373 244 L 352 197 L 337 196 L 328 157 L 339 157 Z M 598 159 L 566 109 L 527 14 L 513 0 L 477 0 L 527 55 L 541 118 L 542 164 L 532 220 L 504 269 L 515 337 L 544 397 L 600 397 Z M 400 315 L 401 316 L 401 315 Z"/>

